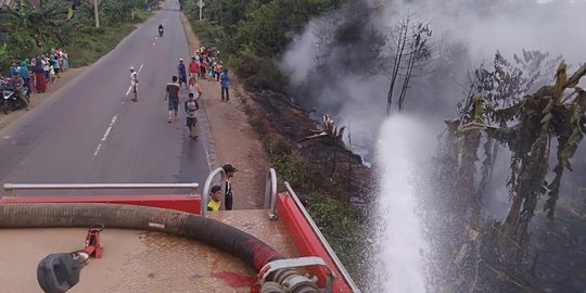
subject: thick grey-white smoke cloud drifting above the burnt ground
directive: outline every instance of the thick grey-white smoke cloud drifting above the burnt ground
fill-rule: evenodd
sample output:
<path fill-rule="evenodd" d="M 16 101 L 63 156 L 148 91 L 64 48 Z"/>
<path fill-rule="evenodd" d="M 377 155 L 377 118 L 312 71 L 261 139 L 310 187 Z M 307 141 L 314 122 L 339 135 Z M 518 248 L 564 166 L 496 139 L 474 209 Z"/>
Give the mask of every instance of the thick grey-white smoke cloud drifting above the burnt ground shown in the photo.
<path fill-rule="evenodd" d="M 523 49 L 563 55 L 575 69 L 586 59 L 584 11 L 586 1 L 361 0 L 314 20 L 281 64 L 291 74 L 293 98 L 349 126 L 352 148 L 370 161 L 388 91 L 388 76 L 379 68 L 391 55 L 384 37 L 402 17 L 429 21 L 442 43 L 426 74 L 412 79 L 405 103 L 405 111 L 441 131 L 468 91 L 468 73 L 492 65 L 497 50 L 510 61 Z"/>

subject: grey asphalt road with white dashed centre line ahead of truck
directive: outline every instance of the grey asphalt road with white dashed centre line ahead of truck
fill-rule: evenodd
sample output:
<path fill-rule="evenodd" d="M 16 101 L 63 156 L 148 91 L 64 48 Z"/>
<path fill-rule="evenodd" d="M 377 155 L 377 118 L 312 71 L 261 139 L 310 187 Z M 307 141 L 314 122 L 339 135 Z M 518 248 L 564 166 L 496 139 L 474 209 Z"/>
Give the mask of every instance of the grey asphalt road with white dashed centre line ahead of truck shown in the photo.
<path fill-rule="evenodd" d="M 201 191 L 211 169 L 206 126 L 190 139 L 182 105 L 180 119 L 168 124 L 163 101 L 179 58 L 190 60 L 177 8 L 167 1 L 115 50 L 1 129 L 0 182 L 199 182 Z M 130 65 L 139 71 L 136 103 Z"/>

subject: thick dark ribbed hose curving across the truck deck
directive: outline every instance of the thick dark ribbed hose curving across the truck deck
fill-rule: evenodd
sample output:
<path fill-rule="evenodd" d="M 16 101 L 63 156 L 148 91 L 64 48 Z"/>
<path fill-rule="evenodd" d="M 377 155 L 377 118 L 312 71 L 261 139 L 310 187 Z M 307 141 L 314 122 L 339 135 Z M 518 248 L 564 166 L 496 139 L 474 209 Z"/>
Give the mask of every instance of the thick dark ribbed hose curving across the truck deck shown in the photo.
<path fill-rule="evenodd" d="M 166 232 L 205 242 L 254 267 L 257 271 L 282 258 L 257 238 L 224 222 L 189 213 L 137 205 L 93 203 L 0 204 L 0 228 L 90 227 Z"/>

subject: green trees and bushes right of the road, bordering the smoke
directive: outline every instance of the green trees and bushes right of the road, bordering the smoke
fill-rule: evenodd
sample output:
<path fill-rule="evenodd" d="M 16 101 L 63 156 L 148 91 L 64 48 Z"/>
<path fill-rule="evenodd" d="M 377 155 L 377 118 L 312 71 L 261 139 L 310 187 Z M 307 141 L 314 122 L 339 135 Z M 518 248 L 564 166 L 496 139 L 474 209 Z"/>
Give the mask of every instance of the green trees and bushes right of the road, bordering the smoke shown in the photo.
<path fill-rule="evenodd" d="M 344 0 L 208 1 L 202 21 L 198 1 L 179 2 L 202 43 L 217 46 L 247 87 L 280 90 L 286 78 L 275 60 L 307 22 Z"/>

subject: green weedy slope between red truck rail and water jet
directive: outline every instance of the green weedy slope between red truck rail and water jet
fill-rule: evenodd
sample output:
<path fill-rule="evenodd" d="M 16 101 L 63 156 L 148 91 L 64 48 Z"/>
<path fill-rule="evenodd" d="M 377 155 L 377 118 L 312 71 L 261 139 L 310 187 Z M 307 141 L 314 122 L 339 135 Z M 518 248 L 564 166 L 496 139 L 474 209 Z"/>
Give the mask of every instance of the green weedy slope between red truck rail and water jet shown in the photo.
<path fill-rule="evenodd" d="M 330 180 L 319 166 L 270 126 L 262 111 L 247 103 L 244 109 L 251 125 L 260 133 L 279 179 L 289 182 L 297 195 L 307 200 L 311 218 L 355 281 L 361 283 L 369 269 L 365 262 L 365 244 L 369 238 L 364 232 L 367 226 L 365 211 L 344 200 L 347 199 L 344 181 Z M 280 190 L 284 190 L 284 187 Z"/>

